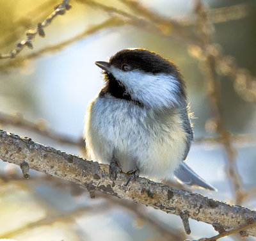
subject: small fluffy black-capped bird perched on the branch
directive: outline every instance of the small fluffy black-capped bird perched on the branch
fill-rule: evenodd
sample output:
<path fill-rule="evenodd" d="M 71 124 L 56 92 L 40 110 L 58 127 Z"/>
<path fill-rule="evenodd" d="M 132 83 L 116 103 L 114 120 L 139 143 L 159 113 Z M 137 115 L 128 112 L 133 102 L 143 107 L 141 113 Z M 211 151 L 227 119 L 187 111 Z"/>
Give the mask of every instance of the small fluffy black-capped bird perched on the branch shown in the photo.
<path fill-rule="evenodd" d="M 104 86 L 88 104 L 88 159 L 109 164 L 131 180 L 146 176 L 216 190 L 185 162 L 193 142 L 186 84 L 169 59 L 147 49 L 123 49 L 97 61 Z"/>

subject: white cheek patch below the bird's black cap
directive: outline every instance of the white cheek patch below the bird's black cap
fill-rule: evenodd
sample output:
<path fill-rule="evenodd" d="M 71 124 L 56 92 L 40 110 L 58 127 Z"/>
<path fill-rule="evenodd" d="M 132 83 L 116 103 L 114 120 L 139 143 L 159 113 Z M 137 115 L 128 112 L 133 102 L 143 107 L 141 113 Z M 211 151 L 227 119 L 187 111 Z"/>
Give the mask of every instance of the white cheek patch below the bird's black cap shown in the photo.
<path fill-rule="evenodd" d="M 179 105 L 180 83 L 168 74 L 150 74 L 140 70 L 124 72 L 111 66 L 111 74 L 122 84 L 134 100 L 150 107 Z"/>

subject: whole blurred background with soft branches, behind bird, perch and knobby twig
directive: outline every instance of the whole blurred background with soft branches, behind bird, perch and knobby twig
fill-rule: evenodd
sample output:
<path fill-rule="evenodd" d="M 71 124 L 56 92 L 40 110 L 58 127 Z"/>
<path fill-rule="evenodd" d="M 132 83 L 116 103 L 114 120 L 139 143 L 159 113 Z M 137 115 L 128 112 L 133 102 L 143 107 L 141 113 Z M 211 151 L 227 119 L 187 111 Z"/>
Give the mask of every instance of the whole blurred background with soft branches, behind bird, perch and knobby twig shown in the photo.
<path fill-rule="evenodd" d="M 8 54 L 60 4 L 0 0 L 0 53 Z M 72 8 L 13 59 L 0 59 L 0 127 L 83 156 L 83 119 L 103 86 L 95 61 L 129 47 L 175 62 L 195 118 L 187 163 L 218 192 L 172 185 L 256 207 L 256 4 L 254 0 L 70 1 Z M 2 55 L 3 57 L 3 55 Z M 29 240 L 195 240 L 216 235 L 175 215 L 88 192 L 0 161 L 0 238 Z M 226 240 L 239 240 L 232 235 Z M 249 237 L 247 240 L 256 240 Z"/>

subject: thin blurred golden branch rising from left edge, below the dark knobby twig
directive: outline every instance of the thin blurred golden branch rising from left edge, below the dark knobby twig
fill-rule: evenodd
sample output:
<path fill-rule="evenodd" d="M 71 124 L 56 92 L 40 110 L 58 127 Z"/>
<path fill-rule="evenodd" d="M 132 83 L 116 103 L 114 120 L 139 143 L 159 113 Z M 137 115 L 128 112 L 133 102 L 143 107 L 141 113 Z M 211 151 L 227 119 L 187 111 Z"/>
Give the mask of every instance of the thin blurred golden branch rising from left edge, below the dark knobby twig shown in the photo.
<path fill-rule="evenodd" d="M 84 38 L 86 36 L 93 35 L 94 33 L 97 33 L 98 31 L 100 31 L 102 29 L 107 29 L 107 28 L 116 27 L 116 26 L 123 26 L 125 24 L 127 24 L 127 22 L 125 22 L 124 20 L 119 19 L 118 17 L 111 17 L 108 20 L 106 20 L 106 21 L 104 21 L 100 24 L 89 27 L 88 29 L 83 31 L 83 33 L 81 33 L 77 36 L 74 36 L 73 38 L 70 38 L 69 40 L 65 40 L 65 41 L 63 41 L 61 43 L 58 43 L 56 45 L 51 45 L 51 46 L 48 46 L 48 47 L 44 47 L 44 48 L 40 49 L 37 52 L 33 52 L 31 54 L 21 56 L 21 57 L 15 59 L 15 61 L 13 61 L 13 59 L 11 59 L 10 61 L 7 61 L 6 63 L 3 63 L 2 65 L 0 65 L 0 71 L 5 71 L 6 72 L 8 69 L 10 69 L 12 67 L 22 66 L 29 59 L 38 58 L 38 57 L 42 56 L 43 54 L 47 54 L 48 52 L 61 51 L 62 49 L 64 49 L 68 45 L 70 45 L 74 42 L 77 42 L 77 41 L 81 40 L 82 38 Z"/>

